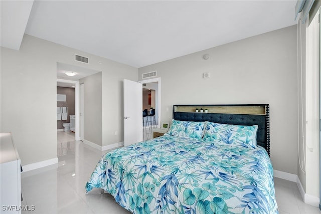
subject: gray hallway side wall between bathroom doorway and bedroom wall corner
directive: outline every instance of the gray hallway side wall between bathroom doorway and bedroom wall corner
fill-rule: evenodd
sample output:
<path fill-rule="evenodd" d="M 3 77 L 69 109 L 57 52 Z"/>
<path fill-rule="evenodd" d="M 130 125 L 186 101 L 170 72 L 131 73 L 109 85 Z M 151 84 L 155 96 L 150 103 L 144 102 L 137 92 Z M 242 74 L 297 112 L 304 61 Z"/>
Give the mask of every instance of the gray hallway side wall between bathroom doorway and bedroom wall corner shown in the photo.
<path fill-rule="evenodd" d="M 84 84 L 84 139 L 102 146 L 101 72 L 79 80 Z"/>

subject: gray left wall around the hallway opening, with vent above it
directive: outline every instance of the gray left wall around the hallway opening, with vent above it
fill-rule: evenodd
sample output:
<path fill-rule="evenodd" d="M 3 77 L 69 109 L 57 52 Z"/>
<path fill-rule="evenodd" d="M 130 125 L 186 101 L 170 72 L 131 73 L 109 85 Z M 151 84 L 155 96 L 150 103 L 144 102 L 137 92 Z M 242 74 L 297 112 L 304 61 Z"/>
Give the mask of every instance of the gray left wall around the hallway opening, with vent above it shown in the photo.
<path fill-rule="evenodd" d="M 13 133 L 22 165 L 57 157 L 57 62 L 102 72 L 102 144 L 123 139 L 122 82 L 137 81 L 137 68 L 24 35 L 19 51 L 1 47 L 0 74 L 0 131 Z"/>

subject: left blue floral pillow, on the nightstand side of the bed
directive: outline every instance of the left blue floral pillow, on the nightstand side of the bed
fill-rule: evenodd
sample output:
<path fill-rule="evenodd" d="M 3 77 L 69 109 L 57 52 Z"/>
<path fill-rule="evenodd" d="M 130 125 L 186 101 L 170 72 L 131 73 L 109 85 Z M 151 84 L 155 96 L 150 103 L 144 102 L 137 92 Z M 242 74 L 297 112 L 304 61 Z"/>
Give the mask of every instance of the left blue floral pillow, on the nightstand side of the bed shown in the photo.
<path fill-rule="evenodd" d="M 172 120 L 167 134 L 202 140 L 205 122 Z"/>

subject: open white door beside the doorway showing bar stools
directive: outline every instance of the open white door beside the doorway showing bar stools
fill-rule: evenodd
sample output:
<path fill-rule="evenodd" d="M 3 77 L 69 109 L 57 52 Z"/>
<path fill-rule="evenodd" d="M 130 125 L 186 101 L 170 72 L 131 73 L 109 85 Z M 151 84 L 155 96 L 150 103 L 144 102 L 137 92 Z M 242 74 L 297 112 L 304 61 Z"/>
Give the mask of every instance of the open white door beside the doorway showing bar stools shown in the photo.
<path fill-rule="evenodd" d="M 142 84 L 124 79 L 124 146 L 142 141 Z"/>

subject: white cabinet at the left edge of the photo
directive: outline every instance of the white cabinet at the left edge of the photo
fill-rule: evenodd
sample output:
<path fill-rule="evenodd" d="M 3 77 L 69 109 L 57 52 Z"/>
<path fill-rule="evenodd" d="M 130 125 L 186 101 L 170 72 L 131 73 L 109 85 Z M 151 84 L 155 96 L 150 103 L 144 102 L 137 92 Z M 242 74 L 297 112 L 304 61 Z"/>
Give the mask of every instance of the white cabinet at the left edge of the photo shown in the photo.
<path fill-rule="evenodd" d="M 20 157 L 9 132 L 0 133 L 0 162 L 0 213 L 21 213 Z"/>

